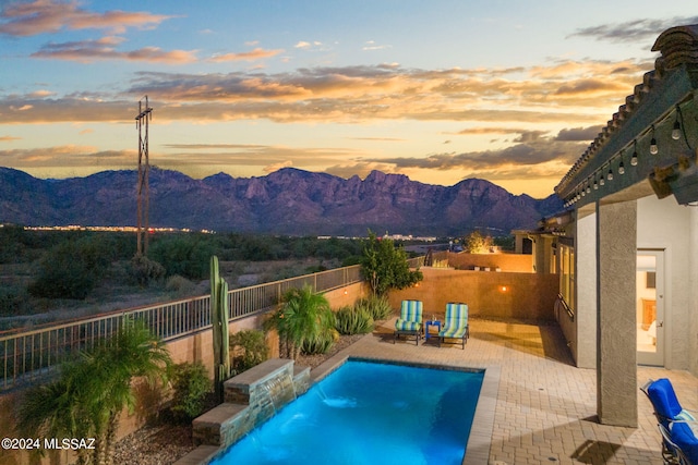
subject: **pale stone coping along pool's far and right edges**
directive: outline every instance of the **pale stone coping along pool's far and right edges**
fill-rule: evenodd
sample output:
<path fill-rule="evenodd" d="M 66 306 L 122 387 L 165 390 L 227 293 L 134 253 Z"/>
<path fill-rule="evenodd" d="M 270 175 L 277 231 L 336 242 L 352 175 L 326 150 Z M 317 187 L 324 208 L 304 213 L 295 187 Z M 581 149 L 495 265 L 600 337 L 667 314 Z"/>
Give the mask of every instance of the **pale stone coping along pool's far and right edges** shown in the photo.
<path fill-rule="evenodd" d="M 455 371 L 483 371 L 484 377 L 482 379 L 482 386 L 480 387 L 478 405 L 472 418 L 472 427 L 470 428 L 470 436 L 468 437 L 466 453 L 462 457 L 461 465 L 482 465 L 490 461 L 490 448 L 492 446 L 492 432 L 494 430 L 494 413 L 497 405 L 500 376 L 502 372 L 498 365 L 473 365 L 466 367 L 426 362 L 396 360 L 389 357 L 382 358 L 344 355 L 339 357 L 332 357 L 324 364 L 311 370 L 311 386 L 329 376 L 348 360 L 365 360 L 433 369 L 450 369 Z"/>

